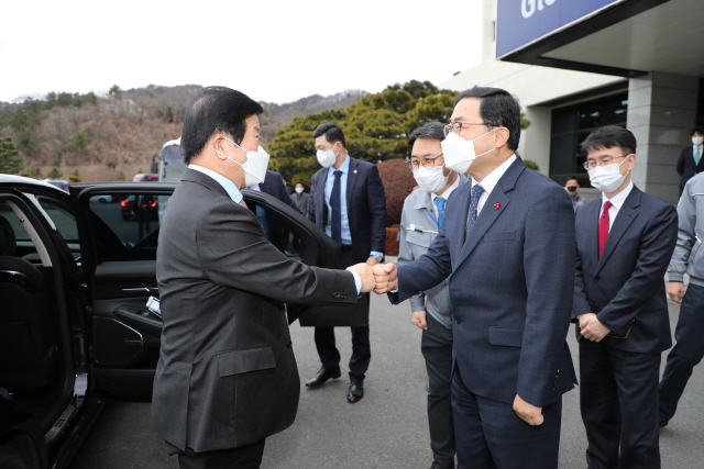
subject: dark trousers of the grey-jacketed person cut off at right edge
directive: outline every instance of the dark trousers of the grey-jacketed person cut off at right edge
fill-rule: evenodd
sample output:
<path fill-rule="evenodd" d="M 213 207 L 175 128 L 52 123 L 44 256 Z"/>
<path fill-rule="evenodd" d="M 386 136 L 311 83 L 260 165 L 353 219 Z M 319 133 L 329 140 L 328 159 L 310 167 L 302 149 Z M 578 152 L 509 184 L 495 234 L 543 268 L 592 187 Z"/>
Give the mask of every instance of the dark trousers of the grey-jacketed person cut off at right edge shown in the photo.
<path fill-rule="evenodd" d="M 676 343 L 660 381 L 660 422 L 668 423 L 678 409 L 694 367 L 704 357 L 704 287 L 690 283 L 682 299 L 680 320 L 674 330 Z"/>

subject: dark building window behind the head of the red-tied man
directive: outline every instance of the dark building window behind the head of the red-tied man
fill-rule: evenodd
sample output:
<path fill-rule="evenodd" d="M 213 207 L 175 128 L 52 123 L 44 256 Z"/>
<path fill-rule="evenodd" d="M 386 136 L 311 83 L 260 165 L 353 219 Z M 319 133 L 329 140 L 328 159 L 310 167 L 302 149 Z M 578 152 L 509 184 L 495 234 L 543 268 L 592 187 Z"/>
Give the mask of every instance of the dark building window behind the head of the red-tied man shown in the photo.
<path fill-rule="evenodd" d="M 580 150 L 588 134 L 604 125 L 626 126 L 628 92 L 552 110 L 550 177 L 564 185 L 575 176 L 581 187 L 592 187 Z"/>

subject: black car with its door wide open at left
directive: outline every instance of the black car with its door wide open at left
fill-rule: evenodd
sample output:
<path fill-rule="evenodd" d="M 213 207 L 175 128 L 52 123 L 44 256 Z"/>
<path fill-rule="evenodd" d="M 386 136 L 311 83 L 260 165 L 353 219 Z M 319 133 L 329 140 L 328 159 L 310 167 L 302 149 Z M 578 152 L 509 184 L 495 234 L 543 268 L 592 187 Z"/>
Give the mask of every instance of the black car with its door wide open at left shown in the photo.
<path fill-rule="evenodd" d="M 152 194 L 167 206 L 175 187 L 78 183 L 66 193 L 0 175 L 0 467 L 66 468 L 107 399 L 151 399 L 162 321 L 145 304 L 158 297 L 160 224 L 139 237 L 95 202 Z M 337 267 L 339 248 L 321 230 L 266 193 L 243 193 L 250 210 L 264 209 L 282 253 Z M 288 319 L 353 325 L 346 317 L 364 304 L 290 305 Z"/>

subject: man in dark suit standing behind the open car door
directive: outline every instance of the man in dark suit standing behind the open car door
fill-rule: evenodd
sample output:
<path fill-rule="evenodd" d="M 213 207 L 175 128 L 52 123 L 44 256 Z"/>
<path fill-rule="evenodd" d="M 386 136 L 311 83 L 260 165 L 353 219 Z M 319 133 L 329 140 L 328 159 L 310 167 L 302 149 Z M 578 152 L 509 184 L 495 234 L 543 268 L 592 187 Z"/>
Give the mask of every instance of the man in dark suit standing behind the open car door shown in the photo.
<path fill-rule="evenodd" d="M 386 197 L 378 169 L 348 156 L 344 134 L 338 125 L 321 124 L 312 135 L 322 169 L 314 175 L 310 185 L 308 220 L 340 245 L 340 268 L 381 263 L 386 246 Z M 341 376 L 334 328 L 316 327 L 315 339 L 322 367 L 306 382 L 314 388 Z M 369 326 L 352 327 L 348 389 L 348 402 L 352 404 L 364 397 L 364 373 L 371 358 Z"/>

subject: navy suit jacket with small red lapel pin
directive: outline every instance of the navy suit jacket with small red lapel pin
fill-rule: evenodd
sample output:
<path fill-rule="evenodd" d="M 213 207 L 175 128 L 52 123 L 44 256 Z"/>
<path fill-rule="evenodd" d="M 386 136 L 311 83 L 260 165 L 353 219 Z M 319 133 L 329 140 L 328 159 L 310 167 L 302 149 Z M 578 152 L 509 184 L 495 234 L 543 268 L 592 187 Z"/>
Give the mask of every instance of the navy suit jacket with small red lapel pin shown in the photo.
<path fill-rule="evenodd" d="M 565 190 L 518 157 L 469 238 L 472 185 L 455 189 L 428 254 L 398 268 L 404 301 L 449 277 L 453 372 L 475 394 L 546 406 L 574 387 L 565 340 L 574 289 L 574 210 Z"/>

